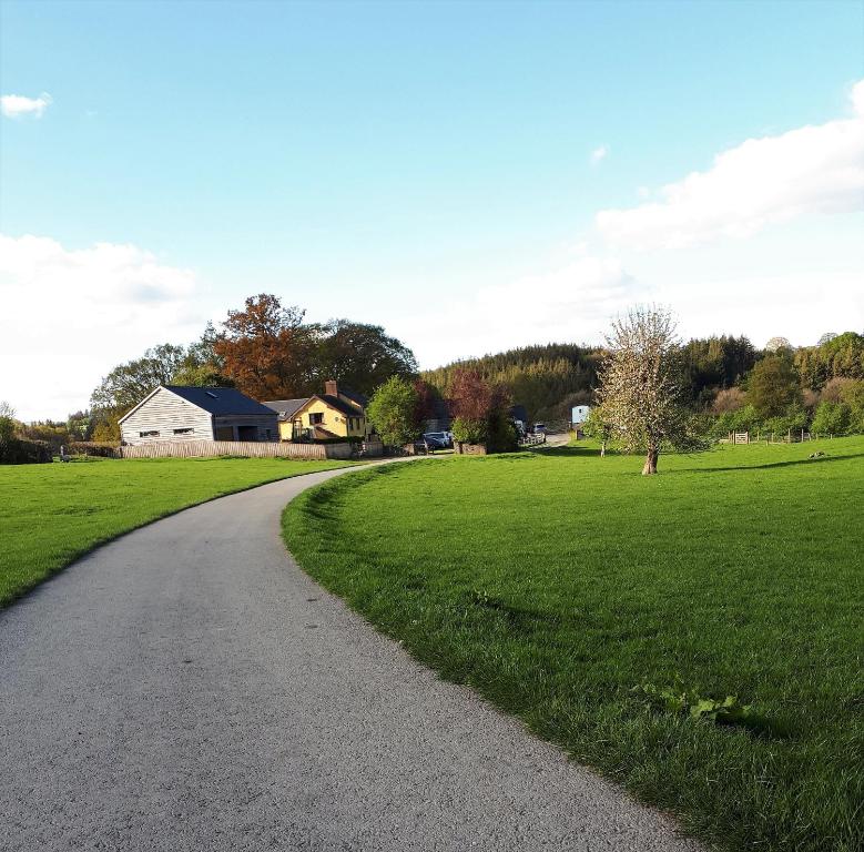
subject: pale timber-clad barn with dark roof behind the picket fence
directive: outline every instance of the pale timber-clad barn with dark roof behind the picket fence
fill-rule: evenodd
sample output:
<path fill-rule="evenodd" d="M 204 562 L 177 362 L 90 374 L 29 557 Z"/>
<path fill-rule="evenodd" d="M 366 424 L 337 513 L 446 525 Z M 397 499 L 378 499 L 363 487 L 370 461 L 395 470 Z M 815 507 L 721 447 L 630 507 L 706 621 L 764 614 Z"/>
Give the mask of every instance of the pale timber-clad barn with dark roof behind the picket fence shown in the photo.
<path fill-rule="evenodd" d="M 123 444 L 278 440 L 278 416 L 233 387 L 160 385 L 120 420 Z"/>

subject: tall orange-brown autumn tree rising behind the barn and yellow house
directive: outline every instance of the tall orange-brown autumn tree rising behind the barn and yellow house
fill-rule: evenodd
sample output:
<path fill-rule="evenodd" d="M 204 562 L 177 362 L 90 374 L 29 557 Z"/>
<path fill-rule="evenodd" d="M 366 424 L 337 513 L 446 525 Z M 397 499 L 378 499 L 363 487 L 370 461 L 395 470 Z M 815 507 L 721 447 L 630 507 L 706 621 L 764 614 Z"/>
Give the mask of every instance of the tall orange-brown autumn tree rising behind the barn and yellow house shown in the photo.
<path fill-rule="evenodd" d="M 284 307 L 268 293 L 250 296 L 242 311 L 228 311 L 213 344 L 225 375 L 255 399 L 308 395 L 321 329 L 304 325 L 303 317 L 303 311 Z"/>

